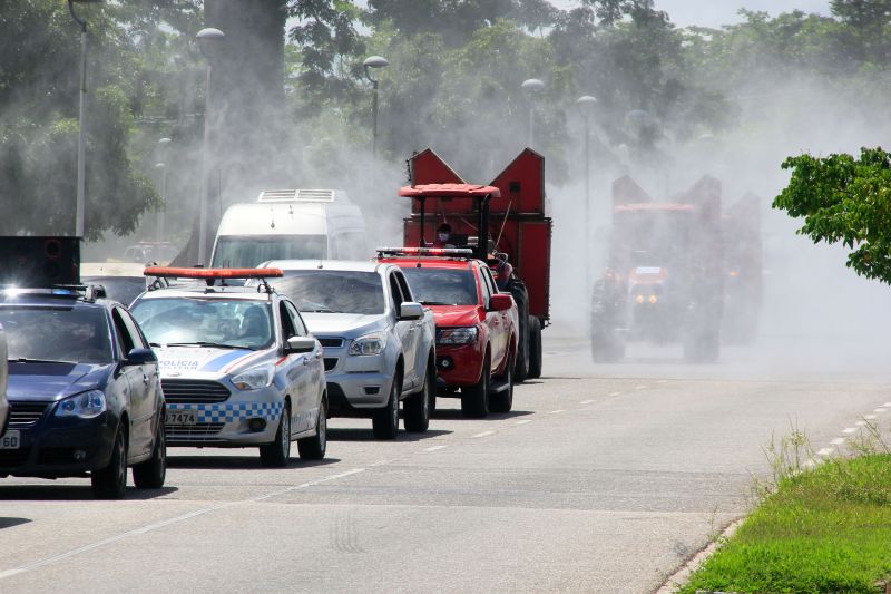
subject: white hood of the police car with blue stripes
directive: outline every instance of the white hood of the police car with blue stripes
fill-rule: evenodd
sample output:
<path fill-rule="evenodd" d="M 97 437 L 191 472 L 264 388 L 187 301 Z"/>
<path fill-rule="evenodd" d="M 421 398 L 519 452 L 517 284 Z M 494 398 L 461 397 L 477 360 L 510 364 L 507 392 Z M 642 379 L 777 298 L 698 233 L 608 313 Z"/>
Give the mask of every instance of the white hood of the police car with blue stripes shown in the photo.
<path fill-rule="evenodd" d="M 194 372 L 232 373 L 274 356 L 275 349 L 213 349 L 209 347 L 156 347 L 161 378 Z"/>

